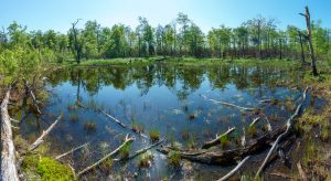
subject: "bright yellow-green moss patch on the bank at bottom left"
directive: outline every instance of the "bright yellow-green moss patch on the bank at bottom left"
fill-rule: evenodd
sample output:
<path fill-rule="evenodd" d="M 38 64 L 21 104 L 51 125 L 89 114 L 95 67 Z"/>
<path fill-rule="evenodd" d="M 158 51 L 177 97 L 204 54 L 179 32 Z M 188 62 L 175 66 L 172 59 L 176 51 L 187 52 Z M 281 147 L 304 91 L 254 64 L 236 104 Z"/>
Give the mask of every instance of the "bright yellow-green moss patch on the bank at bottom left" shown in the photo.
<path fill-rule="evenodd" d="M 66 181 L 74 180 L 68 166 L 50 157 L 28 155 L 22 161 L 22 169 L 28 180 Z"/>

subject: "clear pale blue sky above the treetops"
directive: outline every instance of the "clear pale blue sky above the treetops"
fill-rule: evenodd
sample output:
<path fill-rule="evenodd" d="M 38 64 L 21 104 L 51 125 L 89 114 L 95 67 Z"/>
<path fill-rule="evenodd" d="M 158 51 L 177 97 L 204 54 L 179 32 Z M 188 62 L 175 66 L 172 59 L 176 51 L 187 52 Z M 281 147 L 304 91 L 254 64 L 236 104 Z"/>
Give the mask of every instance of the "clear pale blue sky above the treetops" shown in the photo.
<path fill-rule="evenodd" d="M 312 19 L 331 28 L 331 0 L 1 0 L 0 4 L 0 26 L 17 21 L 29 30 L 43 31 L 66 32 L 78 18 L 97 20 L 104 26 L 124 23 L 135 28 L 141 15 L 157 26 L 171 22 L 179 12 L 186 13 L 204 32 L 221 24 L 238 26 L 257 14 L 276 18 L 281 29 L 287 24 L 303 28 L 298 13 L 307 4 Z"/>

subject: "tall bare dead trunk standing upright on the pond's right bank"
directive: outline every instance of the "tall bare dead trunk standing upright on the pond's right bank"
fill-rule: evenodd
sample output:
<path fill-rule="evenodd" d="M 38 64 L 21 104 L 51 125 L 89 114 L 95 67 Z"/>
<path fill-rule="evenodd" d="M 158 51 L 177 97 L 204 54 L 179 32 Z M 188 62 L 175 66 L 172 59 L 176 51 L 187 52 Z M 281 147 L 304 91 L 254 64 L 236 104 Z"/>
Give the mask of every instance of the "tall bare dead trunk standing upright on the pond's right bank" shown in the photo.
<path fill-rule="evenodd" d="M 319 75 L 317 67 L 316 67 L 316 56 L 313 52 L 313 46 L 312 46 L 312 41 L 311 41 L 311 22 L 310 22 L 310 13 L 308 7 L 306 7 L 306 13 L 300 13 L 300 15 L 303 15 L 306 18 L 306 24 L 307 24 L 307 35 L 306 39 L 308 40 L 308 45 L 309 45 L 309 52 L 310 52 L 310 57 L 311 57 L 311 71 L 312 75 L 317 76 Z"/>

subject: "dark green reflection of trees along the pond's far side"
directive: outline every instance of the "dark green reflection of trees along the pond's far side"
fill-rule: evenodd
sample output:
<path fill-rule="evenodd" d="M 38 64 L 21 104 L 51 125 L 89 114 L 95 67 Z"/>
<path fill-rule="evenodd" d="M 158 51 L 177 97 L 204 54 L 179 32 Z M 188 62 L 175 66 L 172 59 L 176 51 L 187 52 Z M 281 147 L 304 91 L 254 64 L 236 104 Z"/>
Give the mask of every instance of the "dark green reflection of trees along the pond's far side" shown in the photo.
<path fill-rule="evenodd" d="M 78 99 L 81 88 L 84 88 L 88 94 L 95 95 L 103 86 L 126 89 L 128 86 L 136 84 L 141 94 L 147 94 L 149 88 L 154 85 L 164 85 L 174 92 L 179 99 L 183 100 L 201 86 L 204 77 L 207 77 L 212 88 L 222 89 L 228 84 L 234 84 L 238 89 L 245 89 L 258 88 L 261 85 L 274 87 L 276 82 L 289 78 L 287 75 L 290 74 L 285 74 L 284 71 L 276 67 L 234 65 L 182 67 L 150 64 L 103 68 L 71 67 L 51 73 L 49 79 L 53 86 L 70 81 L 73 85 L 77 86 Z"/>

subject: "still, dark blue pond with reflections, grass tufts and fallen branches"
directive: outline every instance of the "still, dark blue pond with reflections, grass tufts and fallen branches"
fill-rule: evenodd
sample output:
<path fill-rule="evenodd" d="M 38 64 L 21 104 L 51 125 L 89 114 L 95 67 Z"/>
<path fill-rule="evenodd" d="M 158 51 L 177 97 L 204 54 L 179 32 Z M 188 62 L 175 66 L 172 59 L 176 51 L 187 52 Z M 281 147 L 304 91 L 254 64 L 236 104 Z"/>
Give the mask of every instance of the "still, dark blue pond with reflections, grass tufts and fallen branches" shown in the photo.
<path fill-rule="evenodd" d="M 150 145 L 148 138 L 116 124 L 96 108 L 103 109 L 128 127 L 135 127 L 149 137 L 157 131 L 167 137 L 163 145 L 175 143 L 183 148 L 201 148 L 202 143 L 235 127 L 243 141 L 246 128 L 260 117 L 256 132 L 266 130 L 266 120 L 276 129 L 282 125 L 300 103 L 301 75 L 285 67 L 269 66 L 183 66 L 162 63 L 147 65 L 114 65 L 107 67 L 68 67 L 46 75 L 50 96 L 41 117 L 23 119 L 20 134 L 34 140 L 43 129 L 63 114 L 47 138 L 51 156 L 89 142 L 87 147 L 68 156 L 76 171 L 111 152 L 127 134 L 136 138 L 130 151 Z M 270 99 L 271 103 L 260 100 Z M 309 97 L 309 103 L 319 106 Z M 77 106 L 77 100 L 81 106 Z M 244 111 L 226 106 L 226 102 L 254 108 Z M 82 106 L 84 105 L 84 106 Z M 24 117 L 24 111 L 19 115 Z M 249 139 L 247 136 L 246 139 Z M 239 143 L 238 143 L 239 145 Z M 228 148 L 236 147 L 231 143 Z M 222 148 L 223 149 L 223 148 Z M 140 157 L 126 162 L 98 168 L 85 174 L 88 179 L 134 178 L 138 180 L 217 179 L 232 167 L 205 166 L 183 162 L 181 168 L 168 164 L 167 157 L 151 149 L 150 168 L 138 168 Z"/>

